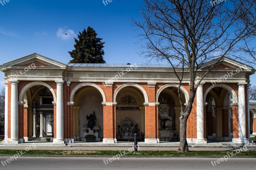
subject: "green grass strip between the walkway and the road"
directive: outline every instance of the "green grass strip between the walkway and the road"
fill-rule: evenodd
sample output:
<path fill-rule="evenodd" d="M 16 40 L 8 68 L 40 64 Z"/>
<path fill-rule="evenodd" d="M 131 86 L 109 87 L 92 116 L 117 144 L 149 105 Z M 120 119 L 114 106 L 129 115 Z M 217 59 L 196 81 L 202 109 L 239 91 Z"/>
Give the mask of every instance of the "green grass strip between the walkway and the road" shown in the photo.
<path fill-rule="evenodd" d="M 0 150 L 1 155 L 14 155 L 20 153 L 21 150 Z M 84 151 L 84 150 L 22 150 L 23 155 L 101 155 L 101 156 L 114 156 L 124 151 Z M 25 152 L 25 153 L 24 153 Z M 220 156 L 223 157 L 228 153 L 233 152 L 235 156 L 251 156 L 256 157 L 255 151 L 243 151 L 236 153 L 236 151 L 190 151 L 188 153 L 180 153 L 177 151 L 138 151 L 129 152 L 125 151 L 125 156 Z"/>

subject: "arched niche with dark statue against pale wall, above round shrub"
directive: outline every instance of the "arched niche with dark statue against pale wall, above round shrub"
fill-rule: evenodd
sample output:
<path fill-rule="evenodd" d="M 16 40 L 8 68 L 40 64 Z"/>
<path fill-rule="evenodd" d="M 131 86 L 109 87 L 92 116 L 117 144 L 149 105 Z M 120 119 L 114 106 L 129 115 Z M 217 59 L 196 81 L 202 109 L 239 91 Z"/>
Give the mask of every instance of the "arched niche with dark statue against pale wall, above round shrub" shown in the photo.
<path fill-rule="evenodd" d="M 105 96 L 105 95 L 104 95 Z M 85 135 L 103 139 L 103 96 L 94 86 L 81 86 L 73 93 L 73 134 L 76 141 L 85 141 Z M 93 118 L 91 119 L 91 115 Z M 95 124 L 90 127 L 90 121 Z M 89 124 L 89 125 L 88 125 Z"/>

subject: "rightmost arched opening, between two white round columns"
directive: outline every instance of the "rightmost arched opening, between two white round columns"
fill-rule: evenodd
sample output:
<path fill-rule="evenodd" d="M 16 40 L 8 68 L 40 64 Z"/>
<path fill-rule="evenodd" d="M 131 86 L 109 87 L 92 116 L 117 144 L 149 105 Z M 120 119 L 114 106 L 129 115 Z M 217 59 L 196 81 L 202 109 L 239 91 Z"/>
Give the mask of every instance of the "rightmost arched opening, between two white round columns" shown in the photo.
<path fill-rule="evenodd" d="M 233 138 L 233 89 L 225 86 L 211 86 L 204 94 L 206 101 L 206 138 L 208 141 L 232 141 Z M 234 96 L 234 98 L 233 98 Z M 234 100 L 233 100 L 233 99 Z"/>

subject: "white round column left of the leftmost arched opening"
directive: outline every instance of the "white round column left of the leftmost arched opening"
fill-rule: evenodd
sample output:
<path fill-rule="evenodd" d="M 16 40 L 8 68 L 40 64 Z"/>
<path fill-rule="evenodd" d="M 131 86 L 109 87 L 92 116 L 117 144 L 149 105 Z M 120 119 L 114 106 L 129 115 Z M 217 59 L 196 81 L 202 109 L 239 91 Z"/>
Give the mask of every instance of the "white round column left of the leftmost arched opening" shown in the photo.
<path fill-rule="evenodd" d="M 18 144 L 19 140 L 19 107 L 18 83 L 19 80 L 10 80 L 11 86 L 11 143 Z M 23 129 L 22 129 L 23 130 Z"/>

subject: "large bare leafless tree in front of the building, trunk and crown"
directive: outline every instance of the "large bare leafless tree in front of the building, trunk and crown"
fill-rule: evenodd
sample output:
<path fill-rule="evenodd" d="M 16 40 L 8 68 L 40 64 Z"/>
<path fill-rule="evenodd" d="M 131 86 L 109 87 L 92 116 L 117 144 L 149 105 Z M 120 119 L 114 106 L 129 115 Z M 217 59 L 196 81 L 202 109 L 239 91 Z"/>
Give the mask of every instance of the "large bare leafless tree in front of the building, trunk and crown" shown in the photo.
<path fill-rule="evenodd" d="M 142 21 L 133 25 L 139 34 L 140 55 L 149 61 L 167 60 L 179 81 L 180 113 L 179 152 L 188 152 L 186 140 L 187 120 L 192 110 L 197 86 L 212 68 L 224 57 L 235 58 L 241 43 L 255 38 L 253 0 L 143 0 L 140 7 Z M 246 16 L 246 17 L 245 17 Z M 248 41 L 248 47 L 251 45 Z M 205 62 L 215 64 L 205 69 Z M 203 70 L 200 75 L 199 70 Z M 197 76 L 200 76 L 197 78 Z M 183 80 L 189 80 L 188 105 L 185 108 L 180 96 Z"/>

